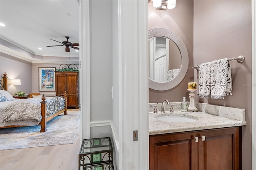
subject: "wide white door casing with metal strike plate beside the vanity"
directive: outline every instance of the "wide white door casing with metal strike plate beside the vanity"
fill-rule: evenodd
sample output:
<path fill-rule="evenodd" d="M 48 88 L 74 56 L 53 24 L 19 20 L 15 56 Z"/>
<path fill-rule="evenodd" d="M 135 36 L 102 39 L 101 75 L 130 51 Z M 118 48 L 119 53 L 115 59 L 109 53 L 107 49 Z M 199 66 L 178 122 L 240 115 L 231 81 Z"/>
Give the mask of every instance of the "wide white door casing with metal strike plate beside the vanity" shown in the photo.
<path fill-rule="evenodd" d="M 120 170 L 149 168 L 147 21 L 147 0 L 118 0 Z"/>

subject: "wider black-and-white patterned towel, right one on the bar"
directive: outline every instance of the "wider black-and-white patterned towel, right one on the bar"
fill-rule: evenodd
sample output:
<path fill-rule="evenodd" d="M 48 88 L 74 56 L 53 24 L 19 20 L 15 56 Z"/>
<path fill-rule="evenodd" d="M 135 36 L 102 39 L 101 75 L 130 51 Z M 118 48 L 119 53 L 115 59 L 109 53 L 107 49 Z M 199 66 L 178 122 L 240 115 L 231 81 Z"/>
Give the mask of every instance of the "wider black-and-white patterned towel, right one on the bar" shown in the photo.
<path fill-rule="evenodd" d="M 224 99 L 232 95 L 231 70 L 228 59 L 218 59 L 211 62 L 211 99 Z"/>

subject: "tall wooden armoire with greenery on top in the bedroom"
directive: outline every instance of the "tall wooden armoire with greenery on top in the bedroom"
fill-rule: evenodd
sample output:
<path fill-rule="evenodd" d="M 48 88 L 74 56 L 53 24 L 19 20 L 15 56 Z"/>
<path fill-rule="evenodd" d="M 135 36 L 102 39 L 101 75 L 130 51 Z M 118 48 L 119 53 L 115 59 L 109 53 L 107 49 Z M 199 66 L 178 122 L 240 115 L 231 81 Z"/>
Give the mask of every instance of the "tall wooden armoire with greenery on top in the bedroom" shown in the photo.
<path fill-rule="evenodd" d="M 79 108 L 79 72 L 55 71 L 56 96 L 67 93 L 67 107 Z"/>

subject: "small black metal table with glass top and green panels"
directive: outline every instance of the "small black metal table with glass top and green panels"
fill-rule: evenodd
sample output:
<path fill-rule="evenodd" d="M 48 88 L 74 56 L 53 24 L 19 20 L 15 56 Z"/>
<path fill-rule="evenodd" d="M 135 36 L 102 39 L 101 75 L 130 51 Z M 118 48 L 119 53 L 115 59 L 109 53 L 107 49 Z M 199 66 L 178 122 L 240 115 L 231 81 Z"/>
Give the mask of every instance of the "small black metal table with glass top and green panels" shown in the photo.
<path fill-rule="evenodd" d="M 79 170 L 114 170 L 110 137 L 83 139 L 78 163 Z"/>

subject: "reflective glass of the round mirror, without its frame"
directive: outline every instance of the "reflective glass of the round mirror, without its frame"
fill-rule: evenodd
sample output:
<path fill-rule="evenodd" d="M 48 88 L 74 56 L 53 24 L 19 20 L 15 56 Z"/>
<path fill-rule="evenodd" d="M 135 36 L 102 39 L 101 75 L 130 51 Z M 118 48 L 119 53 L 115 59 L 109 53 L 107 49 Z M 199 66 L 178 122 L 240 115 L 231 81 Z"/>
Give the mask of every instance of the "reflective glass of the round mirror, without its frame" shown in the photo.
<path fill-rule="evenodd" d="M 178 75 L 181 54 L 177 45 L 169 38 L 156 36 L 148 40 L 149 78 L 166 82 Z"/>

